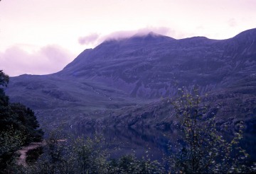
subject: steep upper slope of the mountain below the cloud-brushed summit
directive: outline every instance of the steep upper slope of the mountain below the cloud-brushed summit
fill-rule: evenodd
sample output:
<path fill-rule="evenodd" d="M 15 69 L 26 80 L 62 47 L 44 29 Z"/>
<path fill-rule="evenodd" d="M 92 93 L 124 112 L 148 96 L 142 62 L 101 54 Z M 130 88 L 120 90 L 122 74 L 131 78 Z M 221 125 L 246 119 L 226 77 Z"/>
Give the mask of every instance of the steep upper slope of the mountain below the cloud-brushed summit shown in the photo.
<path fill-rule="evenodd" d="M 177 86 L 195 84 L 203 93 L 252 74 L 255 34 L 254 29 L 229 40 L 174 40 L 151 34 L 112 40 L 85 50 L 58 76 L 102 81 L 139 98 L 170 96 Z"/>

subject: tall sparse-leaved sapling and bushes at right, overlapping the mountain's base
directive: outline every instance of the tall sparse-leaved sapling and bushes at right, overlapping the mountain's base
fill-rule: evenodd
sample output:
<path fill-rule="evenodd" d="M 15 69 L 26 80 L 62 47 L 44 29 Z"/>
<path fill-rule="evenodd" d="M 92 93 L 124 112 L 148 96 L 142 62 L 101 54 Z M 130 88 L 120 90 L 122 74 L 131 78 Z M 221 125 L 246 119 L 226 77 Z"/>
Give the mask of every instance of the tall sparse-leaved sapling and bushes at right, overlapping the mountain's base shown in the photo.
<path fill-rule="evenodd" d="M 201 103 L 198 91 L 195 89 L 193 93 L 188 93 L 183 88 L 179 92 L 172 105 L 181 123 L 183 135 L 178 139 L 178 152 L 169 158 L 171 172 L 251 172 L 253 169 L 245 166 L 249 155 L 239 145 L 242 139 L 241 128 L 238 128 L 232 141 L 225 141 L 216 131 L 215 113 L 209 113 L 208 105 Z"/>

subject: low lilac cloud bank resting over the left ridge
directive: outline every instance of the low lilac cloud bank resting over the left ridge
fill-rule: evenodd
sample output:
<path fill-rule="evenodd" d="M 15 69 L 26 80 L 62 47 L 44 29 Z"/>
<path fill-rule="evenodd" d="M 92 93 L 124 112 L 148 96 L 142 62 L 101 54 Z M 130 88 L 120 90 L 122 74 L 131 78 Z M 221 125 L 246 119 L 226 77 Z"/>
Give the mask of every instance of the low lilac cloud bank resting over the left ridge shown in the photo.
<path fill-rule="evenodd" d="M 14 45 L 0 52 L 0 69 L 9 76 L 51 74 L 63 69 L 73 58 L 73 54 L 58 45 L 47 45 L 33 52 Z"/>

